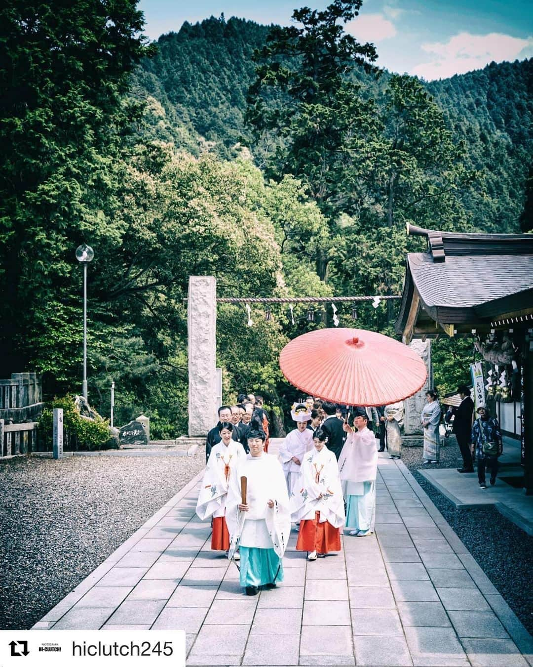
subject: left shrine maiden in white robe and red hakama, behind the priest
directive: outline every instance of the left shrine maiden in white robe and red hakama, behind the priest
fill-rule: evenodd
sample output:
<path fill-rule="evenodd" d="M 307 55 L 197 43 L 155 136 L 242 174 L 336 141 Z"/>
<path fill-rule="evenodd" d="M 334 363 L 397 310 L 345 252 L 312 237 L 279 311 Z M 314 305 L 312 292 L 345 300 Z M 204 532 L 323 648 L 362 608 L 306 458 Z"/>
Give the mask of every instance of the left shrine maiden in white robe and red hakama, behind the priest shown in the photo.
<path fill-rule="evenodd" d="M 222 440 L 212 448 L 207 461 L 196 513 L 202 521 L 210 516 L 213 517 L 211 548 L 215 551 L 225 551 L 228 555 L 229 532 L 225 518 L 228 485 L 236 474 L 237 462 L 244 459 L 246 454 L 241 443 L 231 438 L 233 434 L 231 422 L 222 422 L 219 431 Z M 239 560 L 239 554 L 234 558 Z"/>

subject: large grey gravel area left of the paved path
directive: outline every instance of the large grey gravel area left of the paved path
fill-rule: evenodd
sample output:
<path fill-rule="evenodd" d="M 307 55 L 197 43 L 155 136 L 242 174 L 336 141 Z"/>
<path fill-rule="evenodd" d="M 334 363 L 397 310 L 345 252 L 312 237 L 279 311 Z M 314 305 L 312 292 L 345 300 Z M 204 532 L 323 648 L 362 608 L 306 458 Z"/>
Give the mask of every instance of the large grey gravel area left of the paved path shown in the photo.
<path fill-rule="evenodd" d="M 1 629 L 30 628 L 203 466 L 203 448 L 1 462 Z"/>

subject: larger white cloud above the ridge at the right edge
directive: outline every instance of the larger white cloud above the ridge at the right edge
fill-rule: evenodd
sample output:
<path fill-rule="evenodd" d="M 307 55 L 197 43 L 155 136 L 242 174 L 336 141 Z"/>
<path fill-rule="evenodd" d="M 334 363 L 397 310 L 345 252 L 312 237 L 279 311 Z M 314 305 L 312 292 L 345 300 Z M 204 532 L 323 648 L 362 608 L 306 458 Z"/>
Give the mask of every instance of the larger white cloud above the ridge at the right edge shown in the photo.
<path fill-rule="evenodd" d="M 450 37 L 447 42 L 424 43 L 421 49 L 428 53 L 430 61 L 416 65 L 410 73 L 432 81 L 482 69 L 493 60 L 499 63 L 529 57 L 533 55 L 533 37 L 520 39 L 501 33 L 472 35 L 464 32 Z"/>

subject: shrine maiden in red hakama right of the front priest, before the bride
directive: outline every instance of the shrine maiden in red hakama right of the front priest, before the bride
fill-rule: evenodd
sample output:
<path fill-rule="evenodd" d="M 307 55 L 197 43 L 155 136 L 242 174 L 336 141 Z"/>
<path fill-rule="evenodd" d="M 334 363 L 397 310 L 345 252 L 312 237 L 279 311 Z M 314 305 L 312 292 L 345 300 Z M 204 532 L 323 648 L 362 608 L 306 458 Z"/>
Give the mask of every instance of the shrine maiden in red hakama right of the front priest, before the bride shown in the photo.
<path fill-rule="evenodd" d="M 304 456 L 298 491 L 290 498 L 292 520 L 300 521 L 296 550 L 308 552 L 307 560 L 340 551 L 344 526 L 344 498 L 337 460 L 326 447 L 322 429 L 314 432 L 314 448 Z"/>

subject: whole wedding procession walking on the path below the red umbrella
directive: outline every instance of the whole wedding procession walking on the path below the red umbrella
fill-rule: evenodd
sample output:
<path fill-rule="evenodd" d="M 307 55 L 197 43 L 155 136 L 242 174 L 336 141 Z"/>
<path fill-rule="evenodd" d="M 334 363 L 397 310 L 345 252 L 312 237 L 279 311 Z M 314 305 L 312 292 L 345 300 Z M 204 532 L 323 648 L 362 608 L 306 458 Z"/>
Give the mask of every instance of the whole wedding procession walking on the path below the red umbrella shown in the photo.
<path fill-rule="evenodd" d="M 320 405 L 322 414 L 314 414 L 312 398 L 294 404 L 296 428 L 276 457 L 267 454 L 268 420 L 257 398 L 219 409 L 197 502 L 201 520 L 212 520 L 211 548 L 239 563 L 248 595 L 283 580 L 293 526 L 296 550 L 313 561 L 341 550 L 343 528 L 350 536 L 371 535 L 376 508 L 378 447 L 368 408 L 352 409 L 348 419 L 332 403 Z"/>

